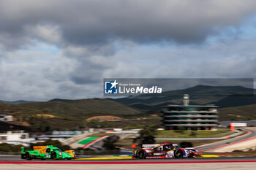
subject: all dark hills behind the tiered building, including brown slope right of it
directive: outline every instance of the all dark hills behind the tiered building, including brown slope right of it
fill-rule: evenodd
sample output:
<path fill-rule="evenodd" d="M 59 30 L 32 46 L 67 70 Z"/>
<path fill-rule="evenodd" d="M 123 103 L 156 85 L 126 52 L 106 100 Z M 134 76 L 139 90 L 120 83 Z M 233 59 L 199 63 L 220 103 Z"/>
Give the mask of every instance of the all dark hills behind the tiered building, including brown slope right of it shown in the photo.
<path fill-rule="evenodd" d="M 183 104 L 182 97 L 189 94 L 191 105 L 215 104 L 219 106 L 219 120 L 254 120 L 256 117 L 256 96 L 254 89 L 241 86 L 197 85 L 183 90 L 171 90 L 162 94 L 144 94 L 117 98 L 115 101 L 127 104 L 142 112 L 158 112 L 168 104 Z"/>

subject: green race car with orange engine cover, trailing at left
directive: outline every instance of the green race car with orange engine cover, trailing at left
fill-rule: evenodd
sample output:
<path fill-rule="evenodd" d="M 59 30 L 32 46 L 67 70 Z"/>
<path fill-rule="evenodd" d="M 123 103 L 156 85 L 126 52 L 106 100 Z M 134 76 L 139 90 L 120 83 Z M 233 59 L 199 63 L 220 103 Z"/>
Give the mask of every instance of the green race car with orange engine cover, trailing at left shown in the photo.
<path fill-rule="evenodd" d="M 59 147 L 53 147 L 53 145 L 47 146 L 34 146 L 33 150 L 25 150 L 21 147 L 21 158 L 26 160 L 31 159 L 71 159 L 72 155 L 68 152 L 62 152 Z"/>

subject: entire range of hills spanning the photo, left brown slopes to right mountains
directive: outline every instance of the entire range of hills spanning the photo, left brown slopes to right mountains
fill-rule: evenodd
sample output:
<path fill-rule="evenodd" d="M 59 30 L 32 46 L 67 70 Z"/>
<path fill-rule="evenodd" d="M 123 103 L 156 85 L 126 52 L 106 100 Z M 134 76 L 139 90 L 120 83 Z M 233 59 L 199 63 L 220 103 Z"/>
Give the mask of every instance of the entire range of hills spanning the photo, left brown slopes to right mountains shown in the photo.
<path fill-rule="evenodd" d="M 160 115 L 162 107 L 168 104 L 183 104 L 182 97 L 187 93 L 190 95 L 192 105 L 216 104 L 219 106 L 219 120 L 252 120 L 256 119 L 254 117 L 256 96 L 248 95 L 252 94 L 252 90 L 240 86 L 197 85 L 183 90 L 166 91 L 162 94 L 144 94 L 116 99 L 54 98 L 46 102 L 1 101 L 0 103 L 4 104 L 0 104 L 0 114 L 13 115 L 14 124 L 30 126 L 34 131 L 159 124 L 160 121 L 154 122 L 154 120 L 144 118 L 150 115 Z M 104 119 L 121 117 L 126 121 L 125 123 L 122 120 L 102 121 L 91 117 L 104 117 Z M 143 118 L 143 121 L 140 118 Z"/>

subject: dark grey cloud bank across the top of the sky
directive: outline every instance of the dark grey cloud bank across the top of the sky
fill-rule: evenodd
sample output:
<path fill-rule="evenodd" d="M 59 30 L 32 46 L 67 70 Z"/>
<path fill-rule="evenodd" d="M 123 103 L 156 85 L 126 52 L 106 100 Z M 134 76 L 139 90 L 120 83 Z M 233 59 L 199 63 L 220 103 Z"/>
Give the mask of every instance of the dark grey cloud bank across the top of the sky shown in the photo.
<path fill-rule="evenodd" d="M 238 26 L 255 9 L 256 1 L 249 0 L 8 0 L 0 2 L 0 34 L 12 36 L 7 46 L 33 38 L 28 30 L 40 25 L 58 26 L 62 45 L 101 46 L 114 39 L 201 42 L 226 26 Z"/>

